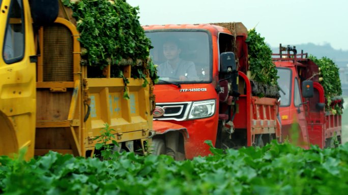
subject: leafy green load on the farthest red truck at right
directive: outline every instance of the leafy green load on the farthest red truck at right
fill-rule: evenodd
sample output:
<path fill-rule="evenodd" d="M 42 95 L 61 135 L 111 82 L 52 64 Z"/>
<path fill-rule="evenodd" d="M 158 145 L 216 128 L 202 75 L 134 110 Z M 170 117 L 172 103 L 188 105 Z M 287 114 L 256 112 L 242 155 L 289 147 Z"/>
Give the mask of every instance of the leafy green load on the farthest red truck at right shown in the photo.
<path fill-rule="evenodd" d="M 328 58 L 322 57 L 318 59 L 313 55 L 308 57 L 320 68 L 319 80 L 320 84 L 324 87 L 324 95 L 327 101 L 327 111 L 331 110 L 333 113 L 342 114 L 343 99 L 337 97 L 342 95 L 341 80 L 339 78 L 339 68 L 335 62 Z"/>

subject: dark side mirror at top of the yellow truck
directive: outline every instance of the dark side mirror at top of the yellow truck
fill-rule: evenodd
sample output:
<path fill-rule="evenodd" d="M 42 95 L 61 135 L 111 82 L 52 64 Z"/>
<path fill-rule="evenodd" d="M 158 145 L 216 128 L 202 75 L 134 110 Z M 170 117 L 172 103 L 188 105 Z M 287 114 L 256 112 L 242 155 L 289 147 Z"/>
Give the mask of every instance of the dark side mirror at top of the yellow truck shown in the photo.
<path fill-rule="evenodd" d="M 31 12 L 36 26 L 46 26 L 53 23 L 58 16 L 58 11 L 57 0 L 32 0 Z"/>

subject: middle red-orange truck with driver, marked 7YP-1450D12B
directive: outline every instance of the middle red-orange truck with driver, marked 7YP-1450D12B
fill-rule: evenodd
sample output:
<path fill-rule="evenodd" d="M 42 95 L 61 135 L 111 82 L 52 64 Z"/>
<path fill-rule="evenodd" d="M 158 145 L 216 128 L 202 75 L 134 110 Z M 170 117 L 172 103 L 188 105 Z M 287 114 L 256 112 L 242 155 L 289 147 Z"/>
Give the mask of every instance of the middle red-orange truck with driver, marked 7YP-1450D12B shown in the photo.
<path fill-rule="evenodd" d="M 143 28 L 160 76 L 154 89 L 153 153 L 190 159 L 210 153 L 206 140 L 218 148 L 281 140 L 278 100 L 252 96 L 248 31 L 242 23 Z"/>

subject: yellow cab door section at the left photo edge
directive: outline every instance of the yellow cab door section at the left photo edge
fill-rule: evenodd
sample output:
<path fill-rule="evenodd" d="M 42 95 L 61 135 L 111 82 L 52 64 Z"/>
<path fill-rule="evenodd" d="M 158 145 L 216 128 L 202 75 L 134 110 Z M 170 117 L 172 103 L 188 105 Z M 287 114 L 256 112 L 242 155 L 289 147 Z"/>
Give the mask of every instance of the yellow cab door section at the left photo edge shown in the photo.
<path fill-rule="evenodd" d="M 18 7 L 20 12 L 16 13 Z M 28 147 L 27 156 L 34 154 L 36 63 L 30 57 L 35 55 L 32 23 L 27 1 L 3 0 L 0 11 L 0 154 L 17 152 L 24 146 Z M 14 40 L 14 48 L 7 45 L 10 39 Z"/>

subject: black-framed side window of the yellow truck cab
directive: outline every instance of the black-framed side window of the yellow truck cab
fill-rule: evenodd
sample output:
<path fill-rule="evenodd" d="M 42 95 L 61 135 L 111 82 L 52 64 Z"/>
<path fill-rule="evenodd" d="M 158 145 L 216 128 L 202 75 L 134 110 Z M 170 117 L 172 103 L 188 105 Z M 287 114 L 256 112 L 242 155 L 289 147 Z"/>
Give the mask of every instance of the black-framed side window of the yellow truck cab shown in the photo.
<path fill-rule="evenodd" d="M 24 17 L 22 0 L 11 2 L 3 46 L 7 64 L 20 61 L 24 55 Z"/>

